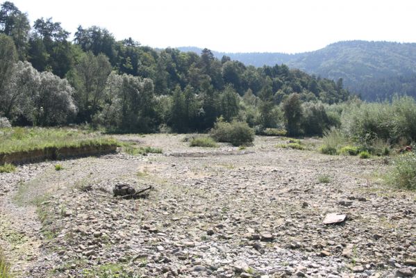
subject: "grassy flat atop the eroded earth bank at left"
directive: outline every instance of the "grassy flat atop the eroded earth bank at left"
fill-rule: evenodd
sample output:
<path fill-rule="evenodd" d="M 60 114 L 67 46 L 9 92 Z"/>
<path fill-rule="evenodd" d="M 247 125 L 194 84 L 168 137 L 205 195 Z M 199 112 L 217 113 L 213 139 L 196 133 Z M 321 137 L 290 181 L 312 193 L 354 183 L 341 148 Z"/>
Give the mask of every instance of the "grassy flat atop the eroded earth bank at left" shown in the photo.
<path fill-rule="evenodd" d="M 29 152 L 48 147 L 86 147 L 117 145 L 101 133 L 68 128 L 11 127 L 0 129 L 0 154 Z"/>

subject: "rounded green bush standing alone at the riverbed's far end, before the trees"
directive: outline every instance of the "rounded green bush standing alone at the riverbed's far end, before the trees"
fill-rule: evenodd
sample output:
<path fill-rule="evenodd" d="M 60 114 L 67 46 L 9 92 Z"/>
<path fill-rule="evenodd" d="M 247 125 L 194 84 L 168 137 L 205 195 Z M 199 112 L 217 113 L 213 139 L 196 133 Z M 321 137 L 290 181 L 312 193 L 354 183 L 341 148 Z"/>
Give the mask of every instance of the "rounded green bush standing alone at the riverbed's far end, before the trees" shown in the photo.
<path fill-rule="evenodd" d="M 234 146 L 249 145 L 254 140 L 254 131 L 247 122 L 216 122 L 210 133 L 218 142 L 231 142 Z"/>

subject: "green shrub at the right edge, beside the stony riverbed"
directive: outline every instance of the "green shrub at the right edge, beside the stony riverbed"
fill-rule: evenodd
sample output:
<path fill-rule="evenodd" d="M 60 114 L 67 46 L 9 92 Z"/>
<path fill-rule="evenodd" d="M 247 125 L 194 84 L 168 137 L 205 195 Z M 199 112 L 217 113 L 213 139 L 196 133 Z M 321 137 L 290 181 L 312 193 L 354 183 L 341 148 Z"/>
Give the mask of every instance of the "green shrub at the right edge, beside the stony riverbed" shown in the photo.
<path fill-rule="evenodd" d="M 393 161 L 393 167 L 388 172 L 386 180 L 392 186 L 416 190 L 416 154 L 408 152 L 401 154 Z"/>

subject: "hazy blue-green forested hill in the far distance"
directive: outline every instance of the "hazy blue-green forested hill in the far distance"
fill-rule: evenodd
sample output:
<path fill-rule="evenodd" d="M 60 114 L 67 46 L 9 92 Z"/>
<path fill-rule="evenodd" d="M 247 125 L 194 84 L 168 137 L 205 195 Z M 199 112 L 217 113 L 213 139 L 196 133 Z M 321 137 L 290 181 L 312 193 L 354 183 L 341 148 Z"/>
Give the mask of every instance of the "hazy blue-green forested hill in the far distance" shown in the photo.
<path fill-rule="evenodd" d="M 201 53 L 197 47 L 179 49 Z M 416 97 L 416 43 L 353 40 L 301 54 L 218 51 L 213 54 L 217 58 L 229 56 L 245 65 L 261 67 L 283 63 L 309 74 L 334 80 L 342 78 L 347 88 L 368 100 L 385 99 L 394 93 Z"/>

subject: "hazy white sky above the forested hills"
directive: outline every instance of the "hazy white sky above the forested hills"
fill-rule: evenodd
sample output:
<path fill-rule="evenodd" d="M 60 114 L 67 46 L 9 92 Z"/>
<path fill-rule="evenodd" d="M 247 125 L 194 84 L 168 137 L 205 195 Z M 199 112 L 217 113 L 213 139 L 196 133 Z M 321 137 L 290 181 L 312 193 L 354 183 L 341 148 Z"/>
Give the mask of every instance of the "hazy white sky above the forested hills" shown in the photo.
<path fill-rule="evenodd" d="M 416 42 L 413 0 L 10 0 L 75 33 L 107 28 L 151 47 L 228 52 L 313 51 L 340 40 Z"/>

